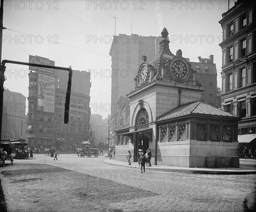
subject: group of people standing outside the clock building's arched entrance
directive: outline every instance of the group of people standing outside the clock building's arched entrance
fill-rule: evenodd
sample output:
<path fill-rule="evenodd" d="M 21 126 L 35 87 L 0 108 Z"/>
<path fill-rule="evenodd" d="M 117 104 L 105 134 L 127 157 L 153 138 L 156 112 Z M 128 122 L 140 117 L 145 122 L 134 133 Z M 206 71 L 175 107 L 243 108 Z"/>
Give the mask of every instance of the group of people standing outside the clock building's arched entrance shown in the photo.
<path fill-rule="evenodd" d="M 146 154 L 144 154 L 142 149 L 139 149 L 139 152 L 137 153 L 137 158 L 138 158 L 138 163 L 141 169 L 141 173 L 143 173 L 143 171 L 145 172 L 145 165 L 146 166 L 151 166 L 151 156 L 152 153 L 150 151 L 150 149 L 146 150 Z M 131 151 L 128 151 L 128 155 L 126 155 L 126 159 L 128 160 L 128 165 L 131 165 Z"/>

